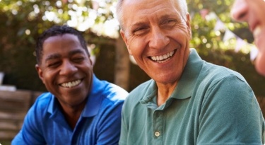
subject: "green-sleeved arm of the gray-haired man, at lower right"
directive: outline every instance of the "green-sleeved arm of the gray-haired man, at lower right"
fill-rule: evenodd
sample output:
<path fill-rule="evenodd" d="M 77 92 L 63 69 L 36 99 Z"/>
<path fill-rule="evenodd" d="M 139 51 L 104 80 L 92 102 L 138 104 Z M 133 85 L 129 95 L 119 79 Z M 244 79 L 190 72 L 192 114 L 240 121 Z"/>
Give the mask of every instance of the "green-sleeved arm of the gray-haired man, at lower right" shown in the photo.
<path fill-rule="evenodd" d="M 237 76 L 207 90 L 199 122 L 197 144 L 261 144 L 264 138 L 259 104 L 252 88 Z"/>

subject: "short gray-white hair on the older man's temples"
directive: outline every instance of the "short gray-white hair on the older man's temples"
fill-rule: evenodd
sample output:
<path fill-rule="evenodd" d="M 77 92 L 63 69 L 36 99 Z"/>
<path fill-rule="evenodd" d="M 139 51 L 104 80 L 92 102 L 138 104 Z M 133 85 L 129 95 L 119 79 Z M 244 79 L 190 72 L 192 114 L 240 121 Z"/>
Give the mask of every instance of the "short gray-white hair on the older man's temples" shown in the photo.
<path fill-rule="evenodd" d="M 182 15 L 182 17 L 184 18 L 184 20 L 186 21 L 186 15 L 188 13 L 188 8 L 187 8 L 187 1 L 186 0 L 174 0 L 176 2 L 176 6 L 177 8 L 180 10 L 180 13 Z M 117 6 L 116 6 L 116 15 L 117 15 L 117 19 L 119 21 L 119 25 L 121 27 L 122 30 L 124 30 L 124 22 L 123 22 L 123 4 L 124 0 L 118 0 L 117 1 Z"/>

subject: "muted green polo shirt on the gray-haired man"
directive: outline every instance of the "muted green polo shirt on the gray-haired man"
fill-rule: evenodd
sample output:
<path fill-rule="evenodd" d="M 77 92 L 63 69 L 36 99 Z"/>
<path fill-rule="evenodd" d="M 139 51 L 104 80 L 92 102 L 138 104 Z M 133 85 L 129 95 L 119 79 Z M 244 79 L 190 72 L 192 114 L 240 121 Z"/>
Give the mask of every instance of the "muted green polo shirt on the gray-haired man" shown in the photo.
<path fill-rule="evenodd" d="M 264 144 L 264 118 L 252 88 L 194 49 L 170 98 L 158 107 L 156 97 L 153 79 L 131 91 L 120 145 Z"/>

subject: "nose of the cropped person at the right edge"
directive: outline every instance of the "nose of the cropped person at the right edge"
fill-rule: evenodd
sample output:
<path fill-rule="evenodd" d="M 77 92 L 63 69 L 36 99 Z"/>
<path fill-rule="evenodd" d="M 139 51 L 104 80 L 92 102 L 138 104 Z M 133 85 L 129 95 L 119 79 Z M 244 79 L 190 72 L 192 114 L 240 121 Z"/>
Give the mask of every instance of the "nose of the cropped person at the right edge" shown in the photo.
<path fill-rule="evenodd" d="M 235 0 L 232 6 L 231 16 L 236 21 L 246 21 L 248 15 L 248 4 L 246 0 Z"/>

